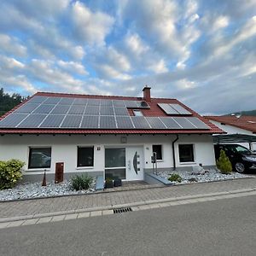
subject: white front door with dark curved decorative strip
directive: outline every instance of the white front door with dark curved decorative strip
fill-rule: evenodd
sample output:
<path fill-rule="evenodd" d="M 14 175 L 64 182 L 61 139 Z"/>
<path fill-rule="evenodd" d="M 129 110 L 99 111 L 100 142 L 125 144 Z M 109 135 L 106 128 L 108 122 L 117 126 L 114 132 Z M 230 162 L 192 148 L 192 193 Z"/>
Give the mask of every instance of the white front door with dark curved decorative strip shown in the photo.
<path fill-rule="evenodd" d="M 126 180 L 143 180 L 143 148 L 126 148 Z"/>

